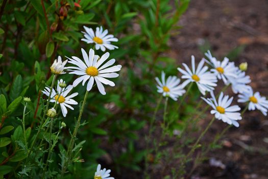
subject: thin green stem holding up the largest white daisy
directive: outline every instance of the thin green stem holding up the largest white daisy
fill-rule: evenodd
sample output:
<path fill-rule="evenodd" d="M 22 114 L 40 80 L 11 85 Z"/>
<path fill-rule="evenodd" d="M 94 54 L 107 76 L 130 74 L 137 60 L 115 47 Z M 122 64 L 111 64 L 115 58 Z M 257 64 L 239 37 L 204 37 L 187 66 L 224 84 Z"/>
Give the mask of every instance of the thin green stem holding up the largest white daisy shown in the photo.
<path fill-rule="evenodd" d="M 77 131 L 78 131 L 78 128 L 80 127 L 80 121 L 81 121 L 81 117 L 82 117 L 82 114 L 83 114 L 83 110 L 85 108 L 87 95 L 88 95 L 88 91 L 86 91 L 86 94 L 85 94 L 85 97 L 84 97 L 84 100 L 83 100 L 83 103 L 82 103 L 82 107 L 81 107 L 81 110 L 80 110 L 80 113 L 79 113 L 79 117 L 78 117 L 78 120 L 77 120 L 77 124 L 76 124 L 75 130 L 74 130 L 74 132 L 72 133 L 72 136 L 71 136 L 71 140 L 70 140 L 68 150 L 67 150 L 67 159 L 66 159 L 66 162 L 63 163 L 62 170 L 61 170 L 61 178 L 63 177 L 63 175 L 64 175 L 64 173 L 66 171 L 66 168 L 68 167 L 68 164 L 70 162 L 72 149 L 74 148 Z"/>

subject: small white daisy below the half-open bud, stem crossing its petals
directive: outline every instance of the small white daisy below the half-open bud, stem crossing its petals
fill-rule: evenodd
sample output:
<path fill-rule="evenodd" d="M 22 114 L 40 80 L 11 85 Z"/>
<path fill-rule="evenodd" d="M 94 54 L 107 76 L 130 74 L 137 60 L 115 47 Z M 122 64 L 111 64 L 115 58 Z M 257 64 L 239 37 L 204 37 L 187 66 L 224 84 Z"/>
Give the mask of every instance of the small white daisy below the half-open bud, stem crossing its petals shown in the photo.
<path fill-rule="evenodd" d="M 59 86 L 59 84 L 62 83 L 62 82 L 65 83 L 65 81 L 63 81 L 62 79 L 60 79 L 60 81 L 58 81 L 57 91 L 55 91 L 55 89 L 52 89 L 50 102 L 55 103 L 58 100 L 57 104 L 60 104 L 62 115 L 64 117 L 66 117 L 66 114 L 68 113 L 66 107 L 70 108 L 71 110 L 74 110 L 74 108 L 71 107 L 70 104 L 72 104 L 72 105 L 77 105 L 78 104 L 78 102 L 76 102 L 75 100 L 71 99 L 71 98 L 74 98 L 75 96 L 77 96 L 78 93 L 73 93 L 73 94 L 67 96 L 68 93 L 70 93 L 70 91 L 73 88 L 73 86 L 68 85 L 67 87 L 61 88 Z M 42 92 L 46 96 L 49 96 L 50 95 L 50 88 L 45 87 L 44 91 L 42 91 Z"/>

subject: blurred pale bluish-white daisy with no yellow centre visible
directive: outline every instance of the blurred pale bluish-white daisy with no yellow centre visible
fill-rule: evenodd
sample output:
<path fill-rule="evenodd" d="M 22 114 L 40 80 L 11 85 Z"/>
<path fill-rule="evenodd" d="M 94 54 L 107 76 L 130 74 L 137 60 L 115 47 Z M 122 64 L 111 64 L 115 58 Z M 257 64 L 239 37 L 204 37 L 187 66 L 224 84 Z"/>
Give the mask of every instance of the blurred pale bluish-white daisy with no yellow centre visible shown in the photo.
<path fill-rule="evenodd" d="M 232 90 L 235 94 L 237 93 L 244 93 L 249 92 L 251 89 L 251 86 L 248 85 L 251 80 L 250 76 L 246 76 L 245 72 L 242 72 L 241 70 L 236 71 L 236 78 L 229 77 L 228 80 L 232 85 Z"/>

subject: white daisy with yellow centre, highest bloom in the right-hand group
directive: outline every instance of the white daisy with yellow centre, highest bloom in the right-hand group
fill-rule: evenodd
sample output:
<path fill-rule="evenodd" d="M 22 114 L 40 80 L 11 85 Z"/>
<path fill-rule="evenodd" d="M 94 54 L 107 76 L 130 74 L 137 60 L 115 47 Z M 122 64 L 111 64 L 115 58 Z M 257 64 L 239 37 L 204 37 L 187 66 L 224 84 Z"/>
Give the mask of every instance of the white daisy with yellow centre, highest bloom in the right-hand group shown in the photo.
<path fill-rule="evenodd" d="M 207 61 L 213 69 L 210 71 L 216 75 L 218 79 L 223 79 L 226 85 L 229 84 L 229 77 L 236 78 L 237 67 L 235 67 L 234 62 L 229 62 L 227 57 L 224 58 L 223 61 L 218 61 L 215 57 L 213 57 L 208 50 L 205 55 L 208 57 L 209 61 Z"/>

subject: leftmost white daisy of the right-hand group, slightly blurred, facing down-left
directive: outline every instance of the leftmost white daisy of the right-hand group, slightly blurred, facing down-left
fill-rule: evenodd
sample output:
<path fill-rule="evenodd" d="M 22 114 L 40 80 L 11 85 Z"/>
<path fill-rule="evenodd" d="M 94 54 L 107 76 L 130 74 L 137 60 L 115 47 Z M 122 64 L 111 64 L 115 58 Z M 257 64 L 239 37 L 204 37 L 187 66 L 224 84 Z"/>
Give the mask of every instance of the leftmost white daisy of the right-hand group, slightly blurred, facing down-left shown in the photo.
<path fill-rule="evenodd" d="M 155 78 L 158 85 L 157 92 L 163 93 L 164 97 L 170 97 L 173 100 L 177 101 L 179 96 L 182 96 L 185 93 L 182 85 L 179 85 L 180 79 L 176 76 L 169 76 L 165 81 L 165 73 L 161 73 L 162 82 L 159 80 L 158 77 Z"/>

